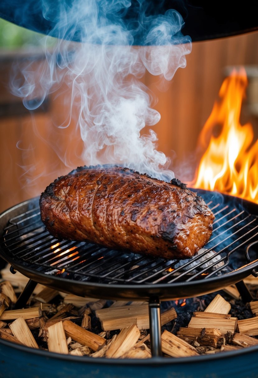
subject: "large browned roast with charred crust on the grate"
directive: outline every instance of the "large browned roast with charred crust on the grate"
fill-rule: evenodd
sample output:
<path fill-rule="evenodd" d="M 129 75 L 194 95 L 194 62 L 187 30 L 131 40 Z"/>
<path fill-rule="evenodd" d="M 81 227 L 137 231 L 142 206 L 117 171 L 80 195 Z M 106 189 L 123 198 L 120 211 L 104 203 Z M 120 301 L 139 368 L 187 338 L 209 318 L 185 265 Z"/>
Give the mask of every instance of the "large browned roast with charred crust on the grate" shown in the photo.
<path fill-rule="evenodd" d="M 187 259 L 204 246 L 214 215 L 173 179 L 118 166 L 78 167 L 51 183 L 40 212 L 57 239 L 92 242 L 165 259 Z"/>

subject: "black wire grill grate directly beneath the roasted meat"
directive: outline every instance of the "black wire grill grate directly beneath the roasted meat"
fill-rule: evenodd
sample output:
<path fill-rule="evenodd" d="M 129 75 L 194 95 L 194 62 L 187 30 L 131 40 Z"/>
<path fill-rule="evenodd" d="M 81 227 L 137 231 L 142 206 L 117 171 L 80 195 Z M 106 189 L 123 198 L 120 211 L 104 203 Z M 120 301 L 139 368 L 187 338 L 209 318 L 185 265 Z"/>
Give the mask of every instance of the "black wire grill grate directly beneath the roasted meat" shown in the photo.
<path fill-rule="evenodd" d="M 190 260 L 164 260 L 90 243 L 58 241 L 45 230 L 38 201 L 9 219 L 1 245 L 9 260 L 81 282 L 167 284 L 205 280 L 241 269 L 251 261 L 246 247 L 258 239 L 257 215 L 242 209 L 240 201 L 225 202 L 222 195 L 216 198 L 204 192 L 202 197 L 215 215 L 213 234 L 205 249 Z"/>

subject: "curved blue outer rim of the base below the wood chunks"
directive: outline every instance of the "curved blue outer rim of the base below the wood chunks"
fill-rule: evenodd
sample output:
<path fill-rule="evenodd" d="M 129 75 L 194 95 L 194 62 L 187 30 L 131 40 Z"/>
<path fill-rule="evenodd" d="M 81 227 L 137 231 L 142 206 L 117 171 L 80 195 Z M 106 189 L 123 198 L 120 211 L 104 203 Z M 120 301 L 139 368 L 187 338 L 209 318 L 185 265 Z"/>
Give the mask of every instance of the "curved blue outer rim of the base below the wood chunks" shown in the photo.
<path fill-rule="evenodd" d="M 185 358 L 105 359 L 61 355 L 0 339 L 5 378 L 256 378 L 258 346 Z"/>

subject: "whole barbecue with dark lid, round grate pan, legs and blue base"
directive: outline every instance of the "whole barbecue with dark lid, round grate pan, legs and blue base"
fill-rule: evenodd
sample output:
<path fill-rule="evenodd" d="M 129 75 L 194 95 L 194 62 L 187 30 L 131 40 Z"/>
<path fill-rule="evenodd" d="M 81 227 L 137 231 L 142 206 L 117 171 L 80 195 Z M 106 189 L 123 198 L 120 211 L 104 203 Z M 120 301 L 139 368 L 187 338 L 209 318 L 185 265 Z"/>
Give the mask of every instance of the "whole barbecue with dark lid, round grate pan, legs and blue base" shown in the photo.
<path fill-rule="evenodd" d="M 59 37 L 54 28 L 57 4 L 70 5 L 70 0 L 51 2 L 51 13 L 43 17 L 40 2 L 32 0 L 3 1 L 0 17 L 40 33 Z M 132 1 L 138 5 L 140 2 Z M 232 36 L 257 30 L 257 2 L 244 6 L 225 2 L 151 1 L 145 2 L 149 15 L 177 9 L 185 26 L 183 35 L 192 41 Z M 163 8 L 162 8 L 163 7 Z M 132 22 L 137 8 L 124 18 Z M 23 17 L 21 17 L 23 15 Z M 50 17 L 51 16 L 51 17 Z M 69 39 L 71 31 L 62 36 Z M 138 33 L 139 32 L 139 33 Z M 78 34 L 72 34 L 73 39 Z M 134 34 L 134 42 L 145 44 L 142 30 Z M 191 260 L 164 260 L 118 252 L 100 246 L 54 239 L 40 220 L 38 200 L 34 198 L 0 215 L 0 256 L 30 281 L 18 299 L 17 307 L 26 303 L 37 282 L 81 296 L 108 299 L 148 300 L 153 358 L 150 360 L 93 359 L 58 355 L 14 345 L 0 340 L 1 369 L 4 376 L 48 378 L 101 377 L 173 378 L 187 376 L 253 378 L 258 369 L 258 347 L 194 358 L 162 358 L 160 356 L 160 301 L 199 296 L 236 283 L 242 297 L 249 293 L 241 280 L 249 274 L 257 276 L 258 205 L 240 198 L 201 191 L 216 219 L 210 242 Z M 17 373 L 19 371 L 19 373 Z"/>

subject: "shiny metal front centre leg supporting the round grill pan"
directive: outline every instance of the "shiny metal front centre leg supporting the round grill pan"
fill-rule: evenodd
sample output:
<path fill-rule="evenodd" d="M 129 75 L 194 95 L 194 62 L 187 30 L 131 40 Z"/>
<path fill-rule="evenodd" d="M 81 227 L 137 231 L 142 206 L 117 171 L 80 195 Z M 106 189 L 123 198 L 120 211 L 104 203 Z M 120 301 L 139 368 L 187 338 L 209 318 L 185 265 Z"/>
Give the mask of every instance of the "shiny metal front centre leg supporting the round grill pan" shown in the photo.
<path fill-rule="evenodd" d="M 157 297 L 152 297 L 149 300 L 149 330 L 152 357 L 162 356 L 160 300 Z"/>

